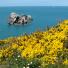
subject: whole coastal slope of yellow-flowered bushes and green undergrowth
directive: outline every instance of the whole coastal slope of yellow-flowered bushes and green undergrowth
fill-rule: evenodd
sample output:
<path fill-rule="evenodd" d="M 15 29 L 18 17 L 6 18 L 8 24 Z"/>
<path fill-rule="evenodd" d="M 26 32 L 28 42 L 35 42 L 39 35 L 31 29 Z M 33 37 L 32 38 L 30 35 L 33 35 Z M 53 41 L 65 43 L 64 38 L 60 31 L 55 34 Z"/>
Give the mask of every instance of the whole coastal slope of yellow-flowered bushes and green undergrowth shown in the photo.
<path fill-rule="evenodd" d="M 0 40 L 0 65 L 3 64 L 11 68 L 68 65 L 68 20 L 47 31 Z"/>

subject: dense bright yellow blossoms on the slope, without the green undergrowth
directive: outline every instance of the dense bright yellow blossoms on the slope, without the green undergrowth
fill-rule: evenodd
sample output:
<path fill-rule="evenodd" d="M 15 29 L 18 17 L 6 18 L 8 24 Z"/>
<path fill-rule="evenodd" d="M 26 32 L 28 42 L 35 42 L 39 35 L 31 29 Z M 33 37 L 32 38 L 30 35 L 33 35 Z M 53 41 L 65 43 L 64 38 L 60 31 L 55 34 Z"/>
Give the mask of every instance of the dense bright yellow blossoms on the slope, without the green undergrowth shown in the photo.
<path fill-rule="evenodd" d="M 55 64 L 59 52 L 63 53 L 64 40 L 67 39 L 68 20 L 64 20 L 58 27 L 52 27 L 48 31 L 35 32 L 30 35 L 1 40 L 0 58 L 11 57 L 14 50 L 20 53 L 21 58 L 40 58 L 46 63 Z M 5 43 L 4 43 L 5 42 Z M 11 43 L 10 43 L 11 42 Z M 63 62 L 68 64 L 68 59 Z"/>

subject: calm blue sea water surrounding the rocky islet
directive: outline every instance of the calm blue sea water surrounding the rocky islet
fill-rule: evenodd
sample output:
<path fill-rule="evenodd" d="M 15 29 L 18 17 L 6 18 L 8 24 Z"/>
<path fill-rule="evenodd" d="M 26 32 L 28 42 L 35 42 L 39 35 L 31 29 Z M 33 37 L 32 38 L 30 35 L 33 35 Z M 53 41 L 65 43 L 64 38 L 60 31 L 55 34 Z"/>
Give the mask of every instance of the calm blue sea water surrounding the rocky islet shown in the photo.
<path fill-rule="evenodd" d="M 11 12 L 31 15 L 32 23 L 27 25 L 8 25 L 8 17 Z M 36 30 L 45 30 L 56 25 L 58 20 L 68 19 L 68 7 L 0 7 L 0 39 L 20 36 L 25 32 L 30 34 Z"/>

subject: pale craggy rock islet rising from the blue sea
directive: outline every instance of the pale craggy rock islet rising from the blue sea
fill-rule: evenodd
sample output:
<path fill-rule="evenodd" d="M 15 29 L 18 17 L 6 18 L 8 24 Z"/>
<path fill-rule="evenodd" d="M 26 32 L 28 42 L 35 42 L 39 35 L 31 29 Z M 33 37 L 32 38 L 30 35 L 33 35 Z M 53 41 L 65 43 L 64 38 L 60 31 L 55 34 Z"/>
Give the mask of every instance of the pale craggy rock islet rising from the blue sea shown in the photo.
<path fill-rule="evenodd" d="M 31 21 L 31 15 L 18 15 L 13 12 L 9 16 L 9 24 L 27 24 Z"/>

